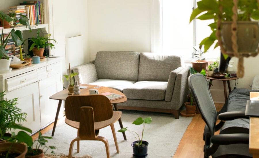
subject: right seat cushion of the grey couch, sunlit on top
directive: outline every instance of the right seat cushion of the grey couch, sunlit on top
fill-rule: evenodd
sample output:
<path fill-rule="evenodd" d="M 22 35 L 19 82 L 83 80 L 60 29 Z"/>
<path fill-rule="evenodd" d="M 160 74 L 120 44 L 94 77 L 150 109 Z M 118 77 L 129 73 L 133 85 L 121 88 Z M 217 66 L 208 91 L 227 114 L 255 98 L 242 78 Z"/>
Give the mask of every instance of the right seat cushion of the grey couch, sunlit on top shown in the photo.
<path fill-rule="evenodd" d="M 128 99 L 164 100 L 167 82 L 139 81 L 124 88 L 123 94 Z"/>

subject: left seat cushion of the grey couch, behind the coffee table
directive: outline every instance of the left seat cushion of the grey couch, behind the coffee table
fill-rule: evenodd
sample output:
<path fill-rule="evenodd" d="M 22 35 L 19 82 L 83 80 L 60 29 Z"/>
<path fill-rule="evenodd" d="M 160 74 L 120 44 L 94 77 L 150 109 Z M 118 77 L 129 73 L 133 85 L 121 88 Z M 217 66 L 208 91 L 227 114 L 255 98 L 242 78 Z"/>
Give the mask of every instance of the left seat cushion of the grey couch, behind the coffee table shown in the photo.
<path fill-rule="evenodd" d="M 99 79 L 95 82 L 89 83 L 97 86 L 110 87 L 120 92 L 123 92 L 123 89 L 128 86 L 132 86 L 134 81 L 126 81 L 126 80 L 110 80 L 110 79 Z"/>

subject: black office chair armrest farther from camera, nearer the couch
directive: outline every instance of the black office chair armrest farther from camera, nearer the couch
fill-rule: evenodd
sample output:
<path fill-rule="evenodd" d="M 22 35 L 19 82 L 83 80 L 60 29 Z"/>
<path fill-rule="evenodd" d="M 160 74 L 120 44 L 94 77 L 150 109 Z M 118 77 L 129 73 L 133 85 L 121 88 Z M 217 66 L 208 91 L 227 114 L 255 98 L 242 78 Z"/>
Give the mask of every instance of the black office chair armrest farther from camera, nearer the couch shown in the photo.
<path fill-rule="evenodd" d="M 230 112 L 220 113 L 218 115 L 218 119 L 224 120 L 224 121 L 235 120 L 238 118 L 249 119 L 249 116 L 245 116 L 245 111 L 230 111 Z"/>

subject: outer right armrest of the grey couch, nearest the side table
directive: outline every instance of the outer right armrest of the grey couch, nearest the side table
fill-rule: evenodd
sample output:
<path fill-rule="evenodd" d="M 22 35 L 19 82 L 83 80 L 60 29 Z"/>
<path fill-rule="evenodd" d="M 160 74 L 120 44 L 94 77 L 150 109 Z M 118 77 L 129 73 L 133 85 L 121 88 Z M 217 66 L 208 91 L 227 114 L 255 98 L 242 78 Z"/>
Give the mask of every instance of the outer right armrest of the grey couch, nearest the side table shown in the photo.
<path fill-rule="evenodd" d="M 171 102 L 174 109 L 180 109 L 184 102 L 187 101 L 188 95 L 188 77 L 190 76 L 189 67 L 185 67 L 181 70 L 175 80 L 174 90 Z"/>

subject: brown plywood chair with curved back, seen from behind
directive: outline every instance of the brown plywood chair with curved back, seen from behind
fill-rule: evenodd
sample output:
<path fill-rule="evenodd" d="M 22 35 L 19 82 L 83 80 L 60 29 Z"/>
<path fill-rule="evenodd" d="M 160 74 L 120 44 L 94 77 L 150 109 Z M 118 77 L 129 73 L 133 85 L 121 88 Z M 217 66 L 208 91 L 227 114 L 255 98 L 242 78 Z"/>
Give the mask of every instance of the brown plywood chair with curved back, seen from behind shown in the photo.
<path fill-rule="evenodd" d="M 104 95 L 71 95 L 65 101 L 65 122 L 77 128 L 77 137 L 70 143 L 68 157 L 72 157 L 74 142 L 77 141 L 79 153 L 80 140 L 99 140 L 104 142 L 107 158 L 110 157 L 108 140 L 99 135 L 99 130 L 111 126 L 115 147 L 119 153 L 114 123 L 121 117 L 121 111 L 113 111 L 111 101 Z"/>

